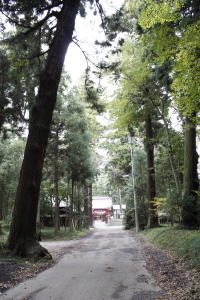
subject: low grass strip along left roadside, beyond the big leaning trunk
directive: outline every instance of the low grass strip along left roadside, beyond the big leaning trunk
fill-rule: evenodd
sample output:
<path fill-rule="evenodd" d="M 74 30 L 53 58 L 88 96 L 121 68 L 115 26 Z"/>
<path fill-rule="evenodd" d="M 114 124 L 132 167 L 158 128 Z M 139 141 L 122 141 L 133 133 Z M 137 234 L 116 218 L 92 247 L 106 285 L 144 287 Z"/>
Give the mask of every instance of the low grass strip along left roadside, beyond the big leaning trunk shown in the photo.
<path fill-rule="evenodd" d="M 74 230 L 70 231 L 69 228 L 61 228 L 60 231 L 55 234 L 55 230 L 52 227 L 45 227 L 42 229 L 42 241 L 58 241 L 58 240 L 72 240 L 77 237 L 86 235 L 88 230 Z"/>

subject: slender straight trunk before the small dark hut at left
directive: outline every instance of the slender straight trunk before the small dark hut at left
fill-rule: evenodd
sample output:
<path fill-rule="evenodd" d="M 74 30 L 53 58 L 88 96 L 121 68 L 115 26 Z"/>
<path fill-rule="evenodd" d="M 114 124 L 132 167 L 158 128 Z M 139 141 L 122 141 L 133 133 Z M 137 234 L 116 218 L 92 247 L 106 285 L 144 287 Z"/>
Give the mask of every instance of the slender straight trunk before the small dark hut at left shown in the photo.
<path fill-rule="evenodd" d="M 55 191 L 55 210 L 54 210 L 54 228 L 55 233 L 60 230 L 60 218 L 59 218 L 59 192 L 58 192 L 58 128 L 56 129 L 56 143 L 55 143 L 55 161 L 54 161 L 54 191 Z"/>

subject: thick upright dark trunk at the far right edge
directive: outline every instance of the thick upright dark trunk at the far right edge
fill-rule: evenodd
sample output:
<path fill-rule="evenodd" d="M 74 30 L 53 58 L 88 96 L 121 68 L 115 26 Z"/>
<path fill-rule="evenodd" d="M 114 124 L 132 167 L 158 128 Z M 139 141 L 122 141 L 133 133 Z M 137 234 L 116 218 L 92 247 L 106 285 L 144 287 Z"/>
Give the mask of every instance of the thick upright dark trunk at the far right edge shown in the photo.
<path fill-rule="evenodd" d="M 190 228 L 198 228 L 198 154 L 196 152 L 196 126 L 189 119 L 185 121 L 185 145 L 184 145 L 184 178 L 183 178 L 183 225 Z"/>

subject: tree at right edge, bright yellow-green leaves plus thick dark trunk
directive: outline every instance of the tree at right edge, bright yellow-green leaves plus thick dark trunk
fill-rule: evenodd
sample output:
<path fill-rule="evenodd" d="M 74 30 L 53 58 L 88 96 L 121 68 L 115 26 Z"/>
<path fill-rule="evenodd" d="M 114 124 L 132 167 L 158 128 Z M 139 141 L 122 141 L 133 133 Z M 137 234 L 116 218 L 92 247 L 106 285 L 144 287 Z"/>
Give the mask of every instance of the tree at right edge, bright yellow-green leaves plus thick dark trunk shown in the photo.
<path fill-rule="evenodd" d="M 170 63 L 174 98 L 185 115 L 183 225 L 198 228 L 198 156 L 196 115 L 199 112 L 199 0 L 136 1 L 139 26 L 154 63 Z M 135 6 L 130 1 L 130 6 Z M 136 6 L 135 6 L 136 7 Z M 177 34 L 179 33 L 179 34 Z"/>

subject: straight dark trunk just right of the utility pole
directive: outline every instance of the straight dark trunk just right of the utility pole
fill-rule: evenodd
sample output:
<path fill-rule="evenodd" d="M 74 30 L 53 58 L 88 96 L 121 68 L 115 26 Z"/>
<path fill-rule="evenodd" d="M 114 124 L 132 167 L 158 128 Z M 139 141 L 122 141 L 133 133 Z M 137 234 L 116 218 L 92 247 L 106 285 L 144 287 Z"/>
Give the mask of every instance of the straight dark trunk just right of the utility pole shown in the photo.
<path fill-rule="evenodd" d="M 151 117 L 147 115 L 146 129 L 146 153 L 147 153 L 147 197 L 149 202 L 148 228 L 158 226 L 158 216 L 154 198 L 156 196 L 155 169 L 154 169 L 154 142 Z"/>

